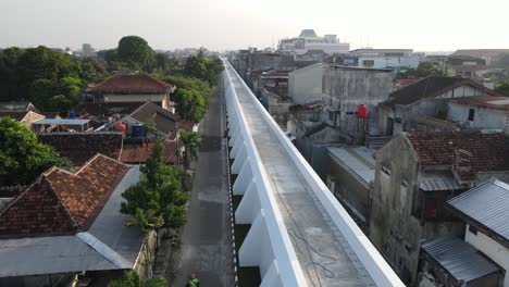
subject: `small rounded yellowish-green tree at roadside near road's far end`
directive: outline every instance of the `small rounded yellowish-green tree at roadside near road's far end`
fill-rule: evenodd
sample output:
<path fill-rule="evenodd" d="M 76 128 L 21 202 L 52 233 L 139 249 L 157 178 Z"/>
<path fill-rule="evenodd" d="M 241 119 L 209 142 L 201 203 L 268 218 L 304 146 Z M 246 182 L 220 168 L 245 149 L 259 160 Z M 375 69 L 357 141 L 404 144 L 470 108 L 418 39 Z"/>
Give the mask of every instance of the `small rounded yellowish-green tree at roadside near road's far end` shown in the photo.
<path fill-rule="evenodd" d="M 174 97 L 175 110 L 181 118 L 200 122 L 207 112 L 207 101 L 203 96 L 193 89 L 177 88 Z"/>

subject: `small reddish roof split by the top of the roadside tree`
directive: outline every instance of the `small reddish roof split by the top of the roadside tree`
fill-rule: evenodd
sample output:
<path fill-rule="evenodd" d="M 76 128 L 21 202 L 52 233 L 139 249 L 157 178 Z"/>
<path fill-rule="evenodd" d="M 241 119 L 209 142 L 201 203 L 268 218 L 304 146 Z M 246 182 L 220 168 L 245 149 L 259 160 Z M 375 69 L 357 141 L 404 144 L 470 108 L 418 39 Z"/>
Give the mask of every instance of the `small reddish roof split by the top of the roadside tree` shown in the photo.
<path fill-rule="evenodd" d="M 178 142 L 176 140 L 165 140 L 164 142 L 164 162 L 170 164 L 178 163 L 177 150 Z M 123 163 L 138 164 L 145 163 L 150 157 L 156 142 L 147 144 L 125 144 L 120 161 Z"/>

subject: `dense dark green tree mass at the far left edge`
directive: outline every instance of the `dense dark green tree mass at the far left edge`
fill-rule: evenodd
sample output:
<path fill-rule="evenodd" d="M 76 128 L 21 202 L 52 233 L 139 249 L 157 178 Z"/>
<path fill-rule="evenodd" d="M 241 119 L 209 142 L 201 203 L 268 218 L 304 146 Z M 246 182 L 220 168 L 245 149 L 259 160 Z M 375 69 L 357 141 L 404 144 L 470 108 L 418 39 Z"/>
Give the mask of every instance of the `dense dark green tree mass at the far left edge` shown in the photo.
<path fill-rule="evenodd" d="M 62 112 L 80 100 L 88 82 L 108 73 L 92 59 L 37 48 L 0 51 L 0 101 L 32 101 L 44 111 Z"/>

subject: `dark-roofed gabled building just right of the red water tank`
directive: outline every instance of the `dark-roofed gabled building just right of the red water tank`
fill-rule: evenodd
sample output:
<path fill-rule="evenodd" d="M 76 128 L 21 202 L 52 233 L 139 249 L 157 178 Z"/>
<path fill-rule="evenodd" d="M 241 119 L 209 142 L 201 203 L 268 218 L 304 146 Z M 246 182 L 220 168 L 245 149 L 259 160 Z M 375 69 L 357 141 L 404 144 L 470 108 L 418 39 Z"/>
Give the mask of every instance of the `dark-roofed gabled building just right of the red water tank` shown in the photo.
<path fill-rule="evenodd" d="M 474 96 L 496 96 L 484 86 L 469 79 L 427 76 L 390 92 L 378 104 L 378 133 L 384 136 L 411 130 L 456 130 L 460 127 L 444 121 L 450 99 Z"/>

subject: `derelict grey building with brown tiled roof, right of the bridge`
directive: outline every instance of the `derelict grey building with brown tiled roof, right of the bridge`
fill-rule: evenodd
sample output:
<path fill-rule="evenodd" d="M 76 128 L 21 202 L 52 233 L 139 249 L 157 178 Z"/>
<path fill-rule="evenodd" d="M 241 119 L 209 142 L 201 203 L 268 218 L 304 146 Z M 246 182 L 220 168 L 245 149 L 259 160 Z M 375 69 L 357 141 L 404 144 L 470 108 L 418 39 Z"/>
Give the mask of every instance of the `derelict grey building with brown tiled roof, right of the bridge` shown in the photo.
<path fill-rule="evenodd" d="M 422 240 L 463 234 L 446 201 L 491 176 L 509 179 L 499 133 L 404 133 L 376 152 L 369 236 L 404 282 L 417 282 Z"/>

